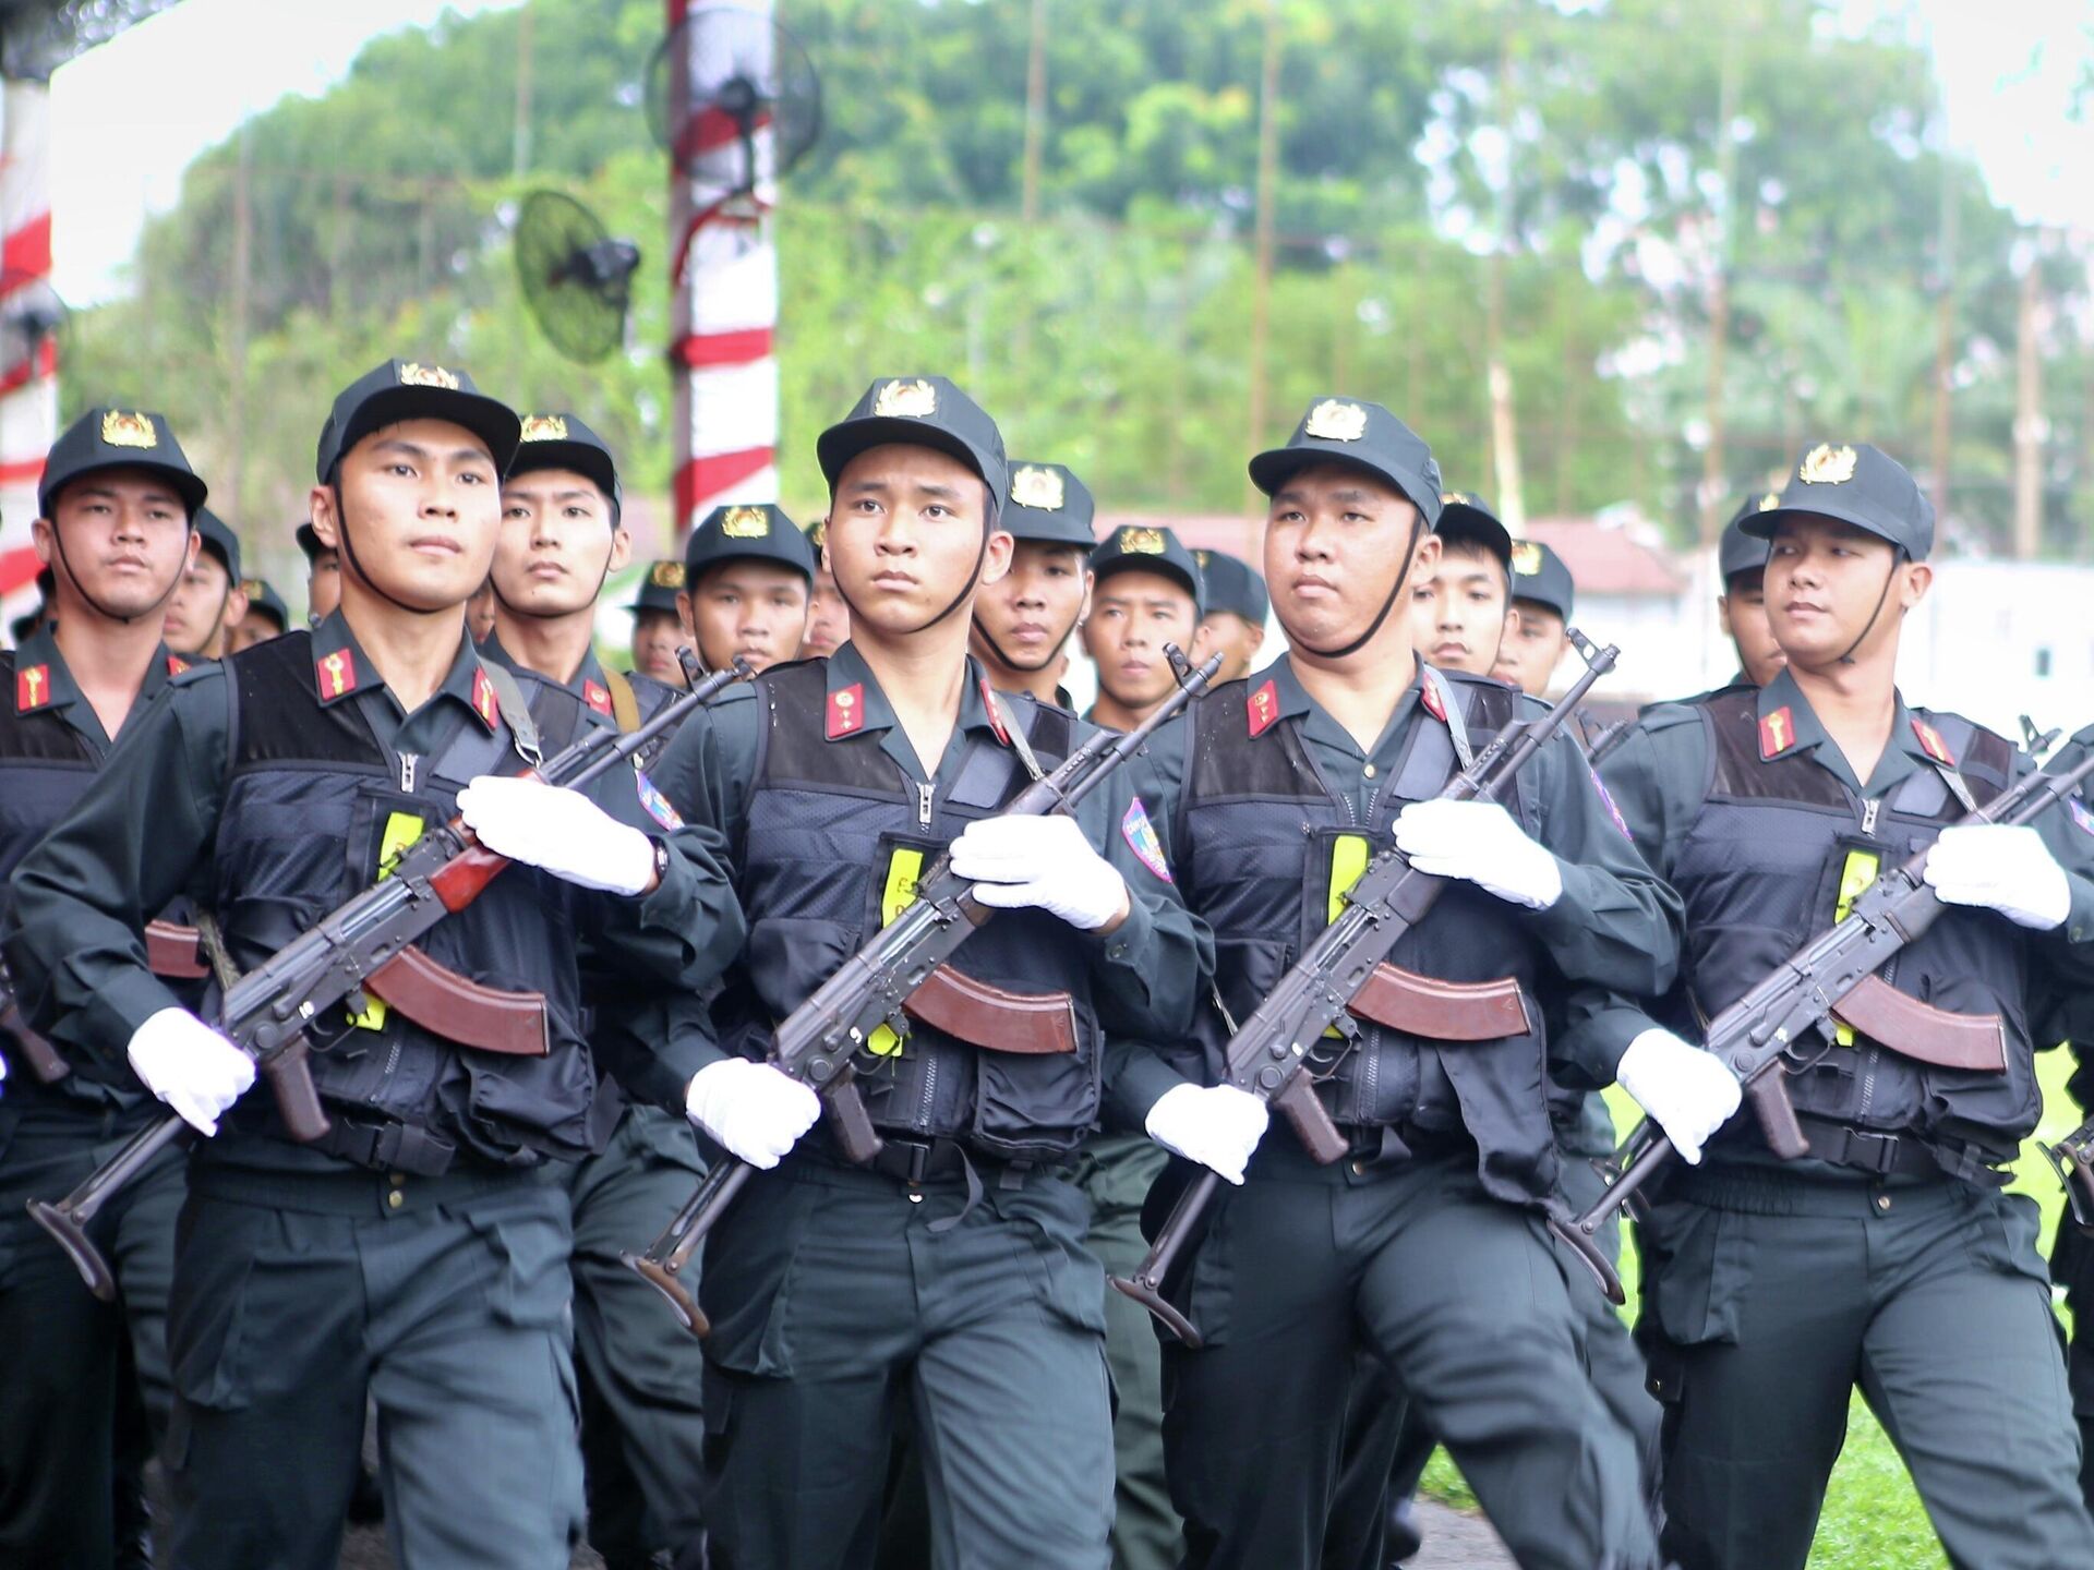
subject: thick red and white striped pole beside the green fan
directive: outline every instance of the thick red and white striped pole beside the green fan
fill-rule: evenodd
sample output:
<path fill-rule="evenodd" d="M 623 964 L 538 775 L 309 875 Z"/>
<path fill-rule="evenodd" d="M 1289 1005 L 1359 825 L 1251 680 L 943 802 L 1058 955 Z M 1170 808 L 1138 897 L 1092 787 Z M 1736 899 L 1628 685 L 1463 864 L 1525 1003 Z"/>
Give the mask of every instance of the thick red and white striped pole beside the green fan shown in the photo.
<path fill-rule="evenodd" d="M 668 119 L 685 153 L 670 159 L 668 203 L 678 546 L 714 507 L 771 502 L 779 494 L 771 128 L 756 130 L 756 188 L 733 195 L 748 163 L 735 121 L 718 111 L 689 111 L 691 84 L 716 86 L 722 75 L 706 59 L 714 29 L 697 13 L 722 8 L 668 0 L 670 27 L 691 17 L 681 33 L 685 59 L 670 63 Z M 735 33 L 758 33 L 768 52 L 771 0 L 735 0 L 733 8 L 762 19 Z M 768 67 L 768 59 L 750 63 Z"/>

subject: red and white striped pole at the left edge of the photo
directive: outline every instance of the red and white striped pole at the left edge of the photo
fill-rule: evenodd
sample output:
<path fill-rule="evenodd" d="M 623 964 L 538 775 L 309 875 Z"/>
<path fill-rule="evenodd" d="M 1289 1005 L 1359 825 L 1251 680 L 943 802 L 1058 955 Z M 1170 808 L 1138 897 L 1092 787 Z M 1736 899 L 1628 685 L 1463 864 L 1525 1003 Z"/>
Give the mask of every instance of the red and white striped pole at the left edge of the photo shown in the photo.
<path fill-rule="evenodd" d="M 0 310 L 50 291 L 50 84 L 0 82 Z M 59 433 L 59 341 L 0 366 L 0 599 L 34 605 L 36 481 Z"/>

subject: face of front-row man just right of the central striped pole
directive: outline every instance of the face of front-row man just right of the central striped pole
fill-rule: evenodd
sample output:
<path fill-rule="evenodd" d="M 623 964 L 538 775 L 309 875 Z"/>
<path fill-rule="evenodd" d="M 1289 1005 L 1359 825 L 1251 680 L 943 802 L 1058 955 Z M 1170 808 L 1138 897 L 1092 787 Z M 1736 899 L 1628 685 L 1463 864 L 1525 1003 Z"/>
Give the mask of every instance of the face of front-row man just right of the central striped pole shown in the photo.
<path fill-rule="evenodd" d="M 986 507 L 980 475 L 934 448 L 879 446 L 844 465 L 823 553 L 852 605 L 852 636 L 923 632 L 949 607 L 965 630 L 974 586 L 1011 565 L 1005 530 L 984 548 Z"/>

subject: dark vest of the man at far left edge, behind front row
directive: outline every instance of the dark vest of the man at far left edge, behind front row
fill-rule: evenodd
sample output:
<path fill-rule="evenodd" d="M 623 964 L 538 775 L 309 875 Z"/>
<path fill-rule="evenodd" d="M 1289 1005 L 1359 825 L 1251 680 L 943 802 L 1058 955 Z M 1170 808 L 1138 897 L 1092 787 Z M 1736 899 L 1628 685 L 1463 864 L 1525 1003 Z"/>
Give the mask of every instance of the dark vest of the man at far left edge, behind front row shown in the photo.
<path fill-rule="evenodd" d="M 15 712 L 15 655 L 0 653 L 0 900 L 6 898 L 6 879 L 21 858 L 71 812 L 101 766 L 94 743 L 67 724 L 59 710 Z M 184 1007 L 201 1003 L 199 984 L 163 980 Z M 142 1107 L 153 1101 L 124 1066 L 121 1051 L 109 1061 L 71 1055 L 71 1074 L 54 1084 L 38 1084 L 4 1028 L 0 1051 L 8 1057 L 10 1099 L 54 1095 L 82 1107 Z"/>

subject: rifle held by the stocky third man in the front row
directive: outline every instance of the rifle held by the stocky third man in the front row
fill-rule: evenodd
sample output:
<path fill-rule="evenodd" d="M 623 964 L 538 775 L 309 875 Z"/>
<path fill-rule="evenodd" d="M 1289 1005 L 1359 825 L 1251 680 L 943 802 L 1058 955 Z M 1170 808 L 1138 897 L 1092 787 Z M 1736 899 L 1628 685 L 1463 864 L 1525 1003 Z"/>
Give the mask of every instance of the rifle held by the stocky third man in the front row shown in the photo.
<path fill-rule="evenodd" d="M 1621 649 L 1612 645 L 1596 649 L 1577 628 L 1570 628 L 1568 636 L 1585 657 L 1585 674 L 1579 676 L 1577 685 L 1547 714 L 1499 731 L 1468 768 L 1447 781 L 1441 800 L 1497 800 L 1512 785 L 1514 775 L 1568 722 L 1577 705 L 1585 701 L 1591 685 L 1614 668 Z M 1238 1091 L 1248 1091 L 1269 1107 L 1282 1112 L 1309 1153 L 1326 1166 L 1344 1160 L 1349 1145 L 1317 1099 L 1317 1076 L 1311 1072 L 1309 1057 L 1323 1038 L 1323 1032 L 1336 1026 L 1346 1013 L 1363 1013 L 1380 1024 L 1416 1030 L 1441 1040 L 1489 1040 L 1527 1030 L 1527 1009 L 1516 984 L 1485 982 L 1480 986 L 1453 986 L 1432 978 L 1409 975 L 1384 963 L 1403 936 L 1424 921 L 1445 890 L 1445 877 L 1420 873 L 1395 846 L 1382 850 L 1367 862 L 1351 892 L 1346 892 L 1344 911 L 1338 913 L 1338 919 L 1317 934 L 1315 942 L 1294 963 L 1294 969 L 1279 978 L 1279 984 L 1265 1003 L 1229 1038 L 1223 1055 L 1225 1082 Z M 1457 1019 L 1447 1019 L 1434 1030 L 1420 1030 L 1416 1013 L 1407 1013 L 1405 1017 L 1384 1013 L 1374 1003 L 1376 992 L 1453 992 L 1457 1005 L 1451 1011 L 1453 1015 L 1480 1011 L 1489 1017 L 1489 1024 L 1480 1026 L 1480 1034 L 1478 1030 L 1460 1030 Z M 1346 1022 L 1344 1034 L 1351 1034 L 1351 1022 Z M 1171 1208 L 1168 1220 L 1156 1233 L 1148 1258 L 1141 1260 L 1133 1277 L 1112 1277 L 1112 1285 L 1118 1292 L 1139 1302 L 1173 1336 L 1194 1348 L 1200 1346 L 1200 1333 L 1164 1298 L 1164 1277 L 1171 1275 L 1177 1256 L 1194 1239 L 1200 1216 L 1206 1214 L 1219 1187 L 1221 1176 L 1202 1170 L 1198 1181 Z M 1550 1225 L 1589 1260 L 1606 1264 L 1589 1239 L 1566 1233 L 1562 1223 L 1554 1218 Z"/>

